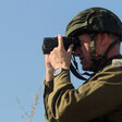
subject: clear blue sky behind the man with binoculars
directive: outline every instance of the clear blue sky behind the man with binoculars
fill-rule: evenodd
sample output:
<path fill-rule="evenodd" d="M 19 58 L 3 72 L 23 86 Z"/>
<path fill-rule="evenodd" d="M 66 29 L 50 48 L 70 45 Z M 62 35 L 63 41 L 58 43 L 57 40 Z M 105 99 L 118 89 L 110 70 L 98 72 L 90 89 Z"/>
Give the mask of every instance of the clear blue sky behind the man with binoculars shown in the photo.
<path fill-rule="evenodd" d="M 29 122 L 37 93 L 32 121 L 46 122 L 42 38 L 64 36 L 66 24 L 93 7 L 122 20 L 121 0 L 0 0 L 0 122 Z M 75 87 L 83 83 L 71 77 Z"/>

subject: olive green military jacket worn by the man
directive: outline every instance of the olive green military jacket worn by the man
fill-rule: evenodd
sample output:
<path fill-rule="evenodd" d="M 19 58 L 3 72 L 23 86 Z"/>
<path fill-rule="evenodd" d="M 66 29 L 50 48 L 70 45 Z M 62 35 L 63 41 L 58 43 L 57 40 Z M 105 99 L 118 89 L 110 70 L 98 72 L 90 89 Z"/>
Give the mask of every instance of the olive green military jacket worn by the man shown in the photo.
<path fill-rule="evenodd" d="M 77 89 L 63 71 L 45 82 L 44 102 L 47 122 L 122 122 L 122 63 L 107 65 Z"/>

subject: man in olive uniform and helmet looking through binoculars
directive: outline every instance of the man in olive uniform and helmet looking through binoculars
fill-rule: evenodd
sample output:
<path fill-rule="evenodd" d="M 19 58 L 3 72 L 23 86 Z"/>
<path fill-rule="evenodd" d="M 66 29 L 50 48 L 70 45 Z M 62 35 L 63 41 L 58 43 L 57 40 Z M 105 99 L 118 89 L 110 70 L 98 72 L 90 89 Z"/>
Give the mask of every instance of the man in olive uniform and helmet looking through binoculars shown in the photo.
<path fill-rule="evenodd" d="M 78 37 L 74 50 L 84 71 L 95 74 L 77 89 L 70 80 L 73 45 L 59 46 L 46 56 L 44 102 L 47 122 L 122 121 L 122 23 L 109 10 L 90 8 L 66 27 L 66 37 Z"/>

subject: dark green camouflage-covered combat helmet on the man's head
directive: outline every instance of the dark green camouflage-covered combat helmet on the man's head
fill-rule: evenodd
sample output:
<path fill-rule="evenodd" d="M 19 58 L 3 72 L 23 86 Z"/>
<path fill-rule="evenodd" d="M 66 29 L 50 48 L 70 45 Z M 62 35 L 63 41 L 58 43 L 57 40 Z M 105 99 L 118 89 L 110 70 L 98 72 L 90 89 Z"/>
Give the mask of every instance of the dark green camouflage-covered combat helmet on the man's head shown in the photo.
<path fill-rule="evenodd" d="M 90 8 L 80 12 L 66 26 L 65 36 L 82 33 L 112 33 L 122 39 L 122 23 L 110 10 Z"/>

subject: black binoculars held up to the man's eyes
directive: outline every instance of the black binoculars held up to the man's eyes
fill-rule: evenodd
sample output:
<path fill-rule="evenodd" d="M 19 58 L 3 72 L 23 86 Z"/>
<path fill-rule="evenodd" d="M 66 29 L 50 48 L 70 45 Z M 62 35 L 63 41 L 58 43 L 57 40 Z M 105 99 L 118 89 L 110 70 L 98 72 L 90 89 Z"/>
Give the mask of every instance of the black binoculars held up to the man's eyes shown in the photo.
<path fill-rule="evenodd" d="M 65 50 L 69 49 L 70 45 L 74 45 L 74 49 L 80 46 L 80 39 L 77 37 L 62 37 L 63 38 L 63 45 Z M 54 47 L 58 47 L 58 37 L 45 37 L 42 44 L 42 52 L 44 54 L 49 54 L 50 51 L 53 50 Z"/>

